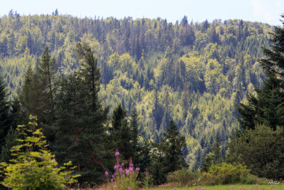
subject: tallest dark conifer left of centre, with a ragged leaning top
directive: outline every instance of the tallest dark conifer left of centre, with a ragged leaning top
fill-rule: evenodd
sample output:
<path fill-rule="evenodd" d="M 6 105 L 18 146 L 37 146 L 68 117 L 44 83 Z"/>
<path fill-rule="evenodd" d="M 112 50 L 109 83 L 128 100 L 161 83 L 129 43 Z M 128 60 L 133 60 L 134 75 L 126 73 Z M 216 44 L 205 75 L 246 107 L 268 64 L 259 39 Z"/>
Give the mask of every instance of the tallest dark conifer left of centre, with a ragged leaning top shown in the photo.
<path fill-rule="evenodd" d="M 72 160 L 81 174 L 80 184 L 102 182 L 108 109 L 101 105 L 99 70 L 92 51 L 78 46 L 84 63 L 82 69 L 62 78 L 55 97 L 55 142 L 53 150 L 60 163 Z M 79 54 L 79 53 L 78 53 Z"/>

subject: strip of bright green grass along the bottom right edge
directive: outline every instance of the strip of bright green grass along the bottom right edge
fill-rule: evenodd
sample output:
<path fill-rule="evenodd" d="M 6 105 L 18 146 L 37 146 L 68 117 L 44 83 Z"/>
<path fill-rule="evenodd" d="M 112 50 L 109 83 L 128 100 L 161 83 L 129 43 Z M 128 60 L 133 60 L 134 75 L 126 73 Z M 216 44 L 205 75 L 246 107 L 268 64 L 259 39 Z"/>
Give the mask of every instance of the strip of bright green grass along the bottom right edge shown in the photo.
<path fill-rule="evenodd" d="M 233 184 L 233 185 L 218 185 L 218 186 L 200 186 L 200 187 L 190 187 L 188 190 L 200 190 L 200 188 L 204 188 L 204 190 L 232 190 L 231 186 L 234 186 L 234 190 L 239 190 L 240 186 L 242 187 L 241 190 L 244 190 L 246 188 L 247 190 L 250 190 L 253 188 L 252 185 L 243 185 L 243 184 Z M 258 185 L 258 189 L 261 190 L 261 188 L 264 188 L 264 190 L 271 190 L 270 185 Z M 166 188 L 153 188 L 150 190 L 173 190 L 173 187 L 166 187 Z M 273 186 L 274 190 L 283 190 L 284 184 L 275 185 Z M 177 190 L 187 190 L 185 187 L 177 187 Z M 253 190 L 256 190 L 256 187 L 253 188 Z"/>

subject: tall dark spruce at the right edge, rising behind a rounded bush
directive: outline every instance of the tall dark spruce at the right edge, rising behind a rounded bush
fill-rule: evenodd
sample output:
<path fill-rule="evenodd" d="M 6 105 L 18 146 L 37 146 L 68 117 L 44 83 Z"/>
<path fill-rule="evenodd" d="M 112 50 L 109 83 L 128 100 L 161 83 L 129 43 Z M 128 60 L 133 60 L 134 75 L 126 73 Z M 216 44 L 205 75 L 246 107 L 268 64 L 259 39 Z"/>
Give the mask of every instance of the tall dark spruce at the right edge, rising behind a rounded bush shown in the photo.
<path fill-rule="evenodd" d="M 254 129 L 257 124 L 273 130 L 276 126 L 284 127 L 284 28 L 276 26 L 271 35 L 272 49 L 263 48 L 267 58 L 260 60 L 267 78 L 261 88 L 256 88 L 256 96 L 248 95 L 248 104 L 240 103 L 237 107 L 244 129 Z"/>

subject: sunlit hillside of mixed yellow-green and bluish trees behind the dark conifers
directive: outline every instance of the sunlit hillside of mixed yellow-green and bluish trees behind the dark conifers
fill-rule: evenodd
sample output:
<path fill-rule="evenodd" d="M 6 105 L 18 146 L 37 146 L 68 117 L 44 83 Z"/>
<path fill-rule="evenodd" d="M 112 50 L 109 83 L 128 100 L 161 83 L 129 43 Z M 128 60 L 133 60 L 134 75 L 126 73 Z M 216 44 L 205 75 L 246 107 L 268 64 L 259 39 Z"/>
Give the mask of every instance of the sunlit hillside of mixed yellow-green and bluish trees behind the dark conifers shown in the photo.
<path fill-rule="evenodd" d="M 197 169 L 216 137 L 224 154 L 229 136 L 239 129 L 235 105 L 262 84 L 257 60 L 270 31 L 268 24 L 241 20 L 194 23 L 184 17 L 168 23 L 11 11 L 0 18 L 0 73 L 12 99 L 45 46 L 59 77 L 80 67 L 75 48 L 87 43 L 97 54 L 99 97 L 109 117 L 119 103 L 129 116 L 135 107 L 143 137 L 155 142 L 173 120 L 185 136 L 183 154 Z"/>

